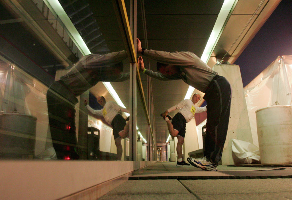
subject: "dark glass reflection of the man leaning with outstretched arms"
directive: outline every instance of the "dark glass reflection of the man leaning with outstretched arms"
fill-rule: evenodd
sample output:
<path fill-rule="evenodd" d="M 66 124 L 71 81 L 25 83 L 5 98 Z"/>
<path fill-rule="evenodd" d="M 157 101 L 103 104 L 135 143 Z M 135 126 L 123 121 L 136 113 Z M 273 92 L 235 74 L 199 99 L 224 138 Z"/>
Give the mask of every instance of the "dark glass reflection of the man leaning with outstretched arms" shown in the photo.
<path fill-rule="evenodd" d="M 99 81 L 120 82 L 129 78 L 123 71 L 125 51 L 105 55 L 90 54 L 68 73 L 51 84 L 47 92 L 48 115 L 53 146 L 58 159 L 77 159 L 75 104 L 81 95 Z"/>

